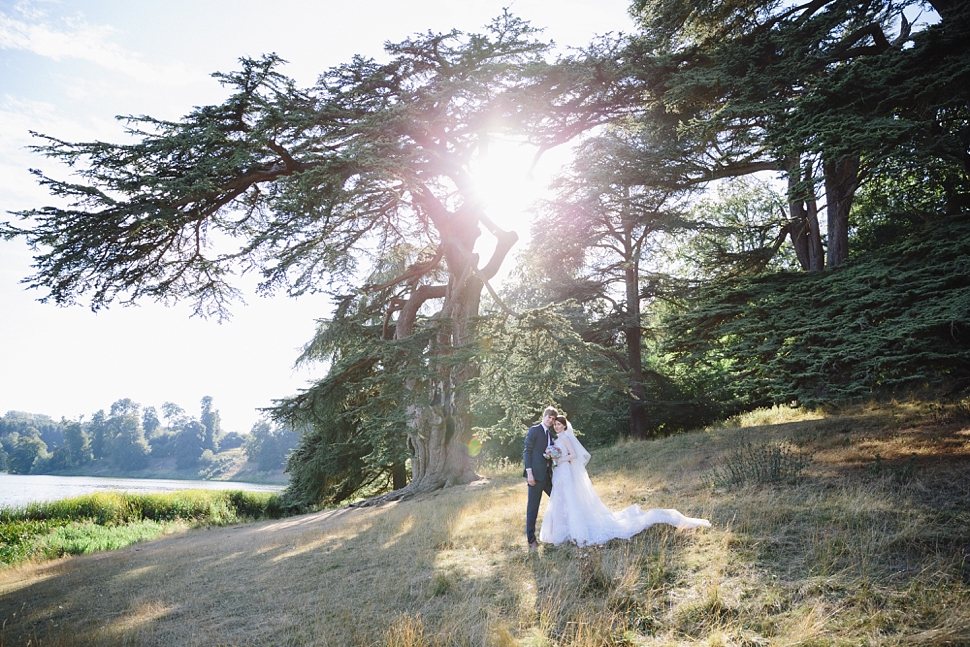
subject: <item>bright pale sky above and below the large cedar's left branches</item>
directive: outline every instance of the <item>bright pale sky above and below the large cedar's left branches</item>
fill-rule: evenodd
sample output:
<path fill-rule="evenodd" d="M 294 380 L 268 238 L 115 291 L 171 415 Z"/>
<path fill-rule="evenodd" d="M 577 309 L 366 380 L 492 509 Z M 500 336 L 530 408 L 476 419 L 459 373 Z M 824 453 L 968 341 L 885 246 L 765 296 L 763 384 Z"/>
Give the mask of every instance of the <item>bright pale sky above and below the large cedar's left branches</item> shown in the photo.
<path fill-rule="evenodd" d="M 0 211 L 52 203 L 27 170 L 60 169 L 25 149 L 29 130 L 118 141 L 115 115 L 178 119 L 220 103 L 210 74 L 240 56 L 276 52 L 307 86 L 354 54 L 380 57 L 383 43 L 416 32 L 475 31 L 506 6 L 562 46 L 632 29 L 629 0 L 0 0 Z M 22 241 L 0 241 L 0 415 L 90 418 L 121 398 L 198 415 L 209 395 L 223 429 L 246 432 L 258 407 L 325 370 L 293 369 L 330 314 L 322 297 L 250 294 L 222 324 L 190 317 L 187 304 L 92 313 L 38 303 L 19 283 L 30 263 Z"/>

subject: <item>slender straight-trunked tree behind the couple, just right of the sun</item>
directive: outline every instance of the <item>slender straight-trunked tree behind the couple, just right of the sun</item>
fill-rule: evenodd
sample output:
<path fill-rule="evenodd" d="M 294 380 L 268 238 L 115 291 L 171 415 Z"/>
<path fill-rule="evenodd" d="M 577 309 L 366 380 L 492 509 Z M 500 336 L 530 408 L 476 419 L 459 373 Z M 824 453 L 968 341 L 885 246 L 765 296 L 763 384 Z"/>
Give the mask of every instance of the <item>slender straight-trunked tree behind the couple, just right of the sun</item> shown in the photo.
<path fill-rule="evenodd" d="M 578 330 L 624 375 L 629 433 L 638 438 L 650 434 L 646 403 L 656 395 L 643 360 L 642 304 L 651 295 L 641 288 L 654 279 L 645 268 L 664 237 L 692 226 L 680 212 L 688 190 L 668 163 L 676 155 L 669 141 L 645 127 L 591 138 L 533 223 L 530 258 L 547 277 L 547 298 L 576 299 L 601 315 Z"/>

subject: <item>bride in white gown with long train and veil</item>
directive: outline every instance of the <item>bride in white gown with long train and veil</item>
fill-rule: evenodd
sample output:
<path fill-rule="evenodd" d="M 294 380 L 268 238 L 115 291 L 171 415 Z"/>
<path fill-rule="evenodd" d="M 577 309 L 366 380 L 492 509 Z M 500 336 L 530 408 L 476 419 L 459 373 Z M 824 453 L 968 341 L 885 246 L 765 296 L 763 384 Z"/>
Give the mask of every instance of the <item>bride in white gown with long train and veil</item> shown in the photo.
<path fill-rule="evenodd" d="M 567 541 L 583 546 L 605 544 L 611 539 L 629 539 L 655 523 L 668 523 L 678 529 L 710 527 L 707 519 L 685 517 L 676 510 L 641 510 L 634 504 L 611 512 L 600 501 L 586 473 L 589 452 L 583 447 L 573 426 L 564 416 L 555 421 L 558 438 L 554 445 L 562 452 L 552 472 L 552 495 L 542 519 L 539 540 L 547 544 Z"/>

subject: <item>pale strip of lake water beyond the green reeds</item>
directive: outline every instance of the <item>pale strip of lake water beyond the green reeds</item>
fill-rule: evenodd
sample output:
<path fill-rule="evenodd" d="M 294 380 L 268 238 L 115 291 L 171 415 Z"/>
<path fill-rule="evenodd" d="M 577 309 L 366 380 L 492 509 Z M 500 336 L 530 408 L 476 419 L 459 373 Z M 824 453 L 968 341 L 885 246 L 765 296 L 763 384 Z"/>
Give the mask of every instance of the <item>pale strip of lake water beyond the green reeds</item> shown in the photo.
<path fill-rule="evenodd" d="M 0 472 L 0 508 L 19 507 L 40 501 L 114 490 L 117 492 L 174 492 L 176 490 L 244 490 L 280 492 L 283 485 L 262 485 L 236 481 L 183 481 L 178 479 L 122 479 L 101 476 L 51 476 Z"/>

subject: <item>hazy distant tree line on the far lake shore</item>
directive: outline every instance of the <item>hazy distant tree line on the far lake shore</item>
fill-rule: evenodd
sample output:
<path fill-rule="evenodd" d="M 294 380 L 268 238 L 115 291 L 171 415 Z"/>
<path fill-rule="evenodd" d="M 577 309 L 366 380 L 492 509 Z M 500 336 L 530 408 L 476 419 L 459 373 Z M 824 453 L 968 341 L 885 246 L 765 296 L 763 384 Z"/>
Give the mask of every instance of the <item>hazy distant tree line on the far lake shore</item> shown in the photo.
<path fill-rule="evenodd" d="M 202 398 L 198 416 L 173 402 L 159 412 L 123 398 L 89 420 L 7 412 L 0 418 L 0 470 L 50 474 L 109 467 L 127 472 L 165 459 L 185 470 L 212 463 L 220 451 L 242 447 L 261 471 L 272 471 L 285 464 L 297 439 L 288 428 L 266 421 L 257 422 L 248 435 L 223 432 L 210 396 Z"/>

